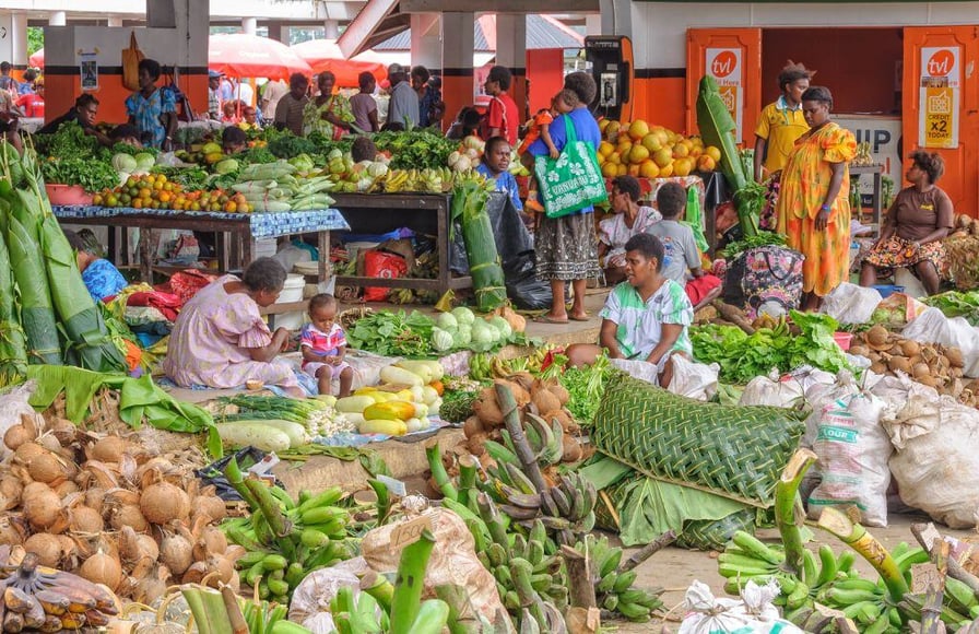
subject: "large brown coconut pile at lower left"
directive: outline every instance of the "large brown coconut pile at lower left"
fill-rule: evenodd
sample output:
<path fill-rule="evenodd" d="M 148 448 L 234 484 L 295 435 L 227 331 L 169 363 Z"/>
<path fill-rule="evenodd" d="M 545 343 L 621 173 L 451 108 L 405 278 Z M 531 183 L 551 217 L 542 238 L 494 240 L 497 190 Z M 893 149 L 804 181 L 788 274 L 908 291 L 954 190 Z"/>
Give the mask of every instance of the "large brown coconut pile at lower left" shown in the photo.
<path fill-rule="evenodd" d="M 0 544 L 11 547 L 10 564 L 34 552 L 43 565 L 146 604 L 172 584 L 237 588 L 244 549 L 214 526 L 225 503 L 175 456 L 40 416 L 22 416 L 3 444 L 13 451 L 0 465 Z"/>

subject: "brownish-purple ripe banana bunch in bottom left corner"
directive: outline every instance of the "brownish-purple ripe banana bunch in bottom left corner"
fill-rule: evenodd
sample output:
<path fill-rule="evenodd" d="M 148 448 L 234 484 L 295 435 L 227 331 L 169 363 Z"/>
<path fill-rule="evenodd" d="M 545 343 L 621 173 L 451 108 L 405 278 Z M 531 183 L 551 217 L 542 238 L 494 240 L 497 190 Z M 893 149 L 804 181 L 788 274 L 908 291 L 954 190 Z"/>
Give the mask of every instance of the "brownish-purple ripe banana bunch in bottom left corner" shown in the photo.
<path fill-rule="evenodd" d="M 4 632 L 102 627 L 118 614 L 111 592 L 78 575 L 39 565 L 34 553 L 24 555 L 20 566 L 4 566 L 0 574 Z"/>

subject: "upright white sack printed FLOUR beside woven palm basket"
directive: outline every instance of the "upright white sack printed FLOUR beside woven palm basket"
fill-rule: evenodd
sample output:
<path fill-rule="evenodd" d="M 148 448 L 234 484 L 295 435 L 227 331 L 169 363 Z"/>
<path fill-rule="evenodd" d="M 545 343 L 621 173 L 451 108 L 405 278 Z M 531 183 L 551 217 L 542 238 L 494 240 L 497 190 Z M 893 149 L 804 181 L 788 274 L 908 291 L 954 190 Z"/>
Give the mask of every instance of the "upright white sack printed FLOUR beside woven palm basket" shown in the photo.
<path fill-rule="evenodd" d="M 894 448 L 881 412 L 884 401 L 870 392 L 837 399 L 822 409 L 813 450 L 822 481 L 809 495 L 809 515 L 827 506 L 856 506 L 866 526 L 887 526 L 887 460 Z"/>

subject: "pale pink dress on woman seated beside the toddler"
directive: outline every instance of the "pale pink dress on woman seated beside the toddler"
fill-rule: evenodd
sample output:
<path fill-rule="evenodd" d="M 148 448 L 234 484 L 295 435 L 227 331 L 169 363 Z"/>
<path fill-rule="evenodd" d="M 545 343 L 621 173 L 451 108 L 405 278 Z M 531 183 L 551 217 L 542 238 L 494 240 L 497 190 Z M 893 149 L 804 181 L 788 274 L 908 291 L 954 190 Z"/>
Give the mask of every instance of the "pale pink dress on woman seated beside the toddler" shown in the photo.
<path fill-rule="evenodd" d="M 298 380 L 284 361 L 252 361 L 249 349 L 272 342 L 272 333 L 251 297 L 228 293 L 236 282 L 224 275 L 204 286 L 180 310 L 163 371 L 180 387 L 236 388 L 248 379 L 296 391 Z"/>

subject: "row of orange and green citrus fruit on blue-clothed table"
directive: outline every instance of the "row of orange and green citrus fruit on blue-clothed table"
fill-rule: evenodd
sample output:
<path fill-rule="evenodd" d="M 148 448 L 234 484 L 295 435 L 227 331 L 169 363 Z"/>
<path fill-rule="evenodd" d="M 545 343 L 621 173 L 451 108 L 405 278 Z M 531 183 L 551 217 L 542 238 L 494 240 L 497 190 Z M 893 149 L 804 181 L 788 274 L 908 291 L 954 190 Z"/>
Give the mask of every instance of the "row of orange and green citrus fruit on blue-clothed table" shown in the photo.
<path fill-rule="evenodd" d="M 185 191 L 178 184 L 167 180 L 163 174 L 130 176 L 122 186 L 93 196 L 92 203 L 102 207 L 176 211 L 247 213 L 252 210 L 241 193 L 226 193 L 222 190 Z"/>

